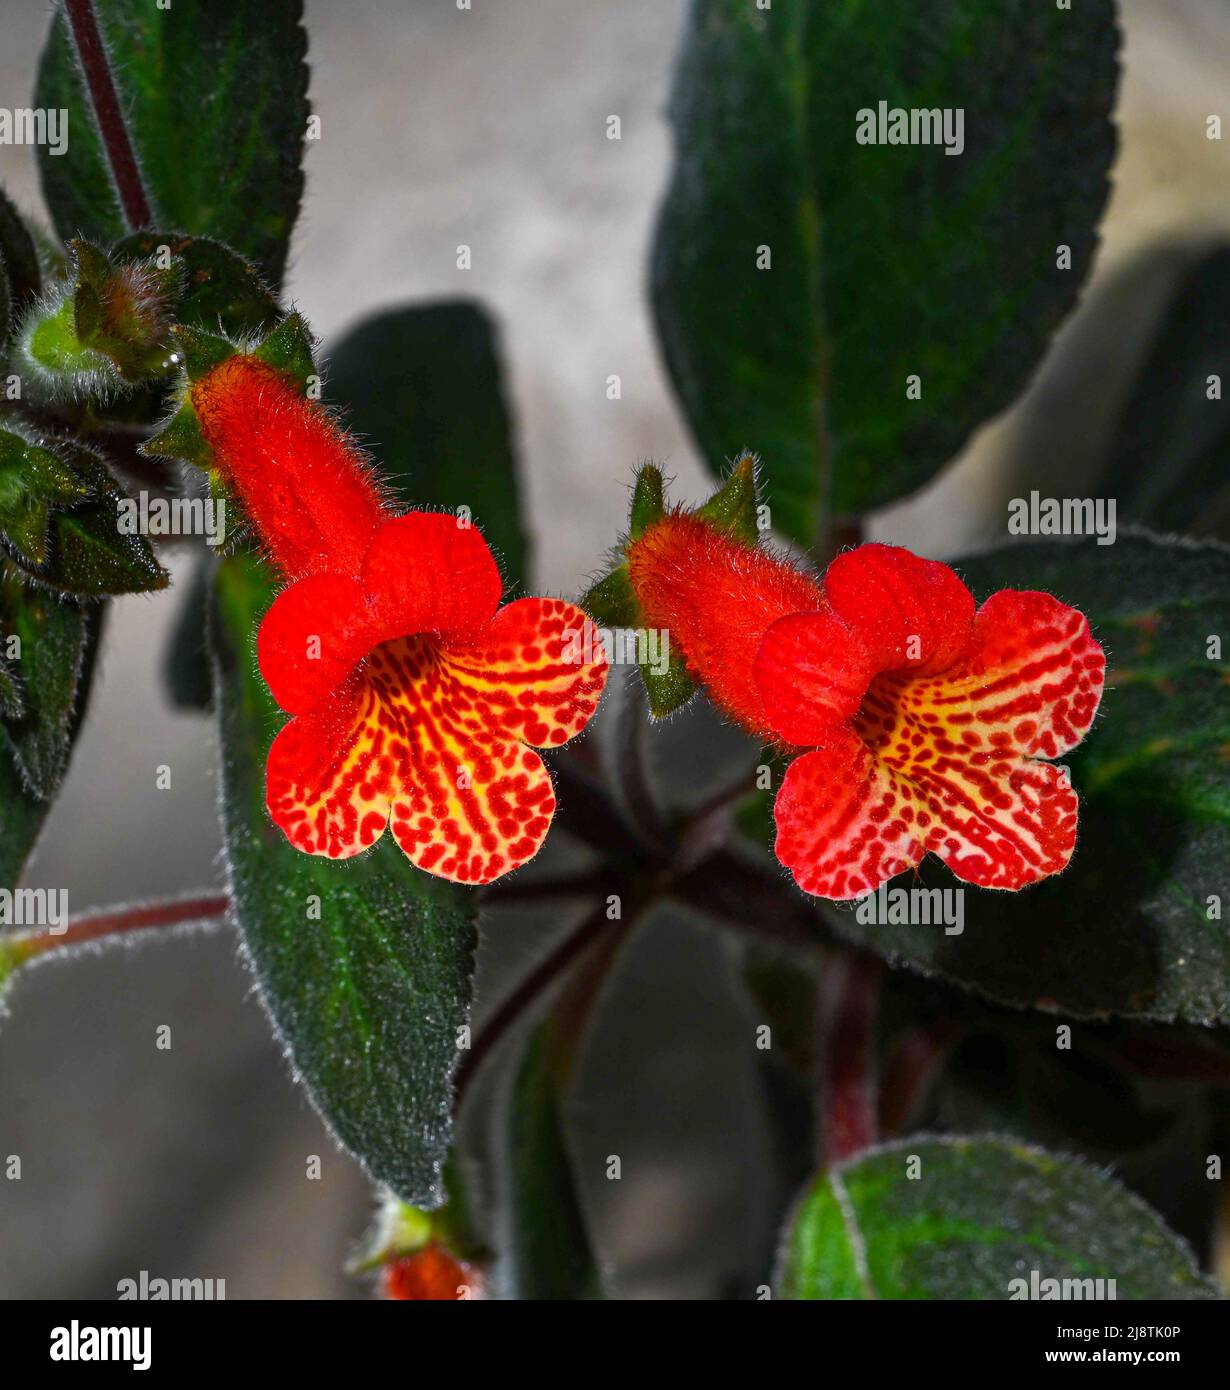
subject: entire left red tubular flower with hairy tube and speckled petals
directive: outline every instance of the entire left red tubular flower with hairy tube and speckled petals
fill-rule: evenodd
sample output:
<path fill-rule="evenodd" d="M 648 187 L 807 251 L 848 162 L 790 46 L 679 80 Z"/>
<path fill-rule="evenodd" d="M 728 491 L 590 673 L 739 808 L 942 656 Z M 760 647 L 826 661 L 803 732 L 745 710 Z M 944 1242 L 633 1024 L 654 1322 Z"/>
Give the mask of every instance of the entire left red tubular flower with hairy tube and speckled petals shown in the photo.
<path fill-rule="evenodd" d="M 606 682 L 585 614 L 560 599 L 500 607 L 479 532 L 392 516 L 328 413 L 254 357 L 192 385 L 214 464 L 293 580 L 257 635 L 295 717 L 270 748 L 265 799 L 307 853 L 349 858 L 392 826 L 406 855 L 459 883 L 525 863 L 555 792 L 535 748 L 580 733 Z"/>

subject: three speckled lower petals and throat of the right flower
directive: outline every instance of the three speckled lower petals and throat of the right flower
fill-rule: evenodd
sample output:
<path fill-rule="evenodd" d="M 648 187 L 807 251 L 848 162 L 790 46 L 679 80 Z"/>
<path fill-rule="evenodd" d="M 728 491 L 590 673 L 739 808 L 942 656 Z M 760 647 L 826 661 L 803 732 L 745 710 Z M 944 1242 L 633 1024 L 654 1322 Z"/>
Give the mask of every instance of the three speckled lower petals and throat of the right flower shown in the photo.
<path fill-rule="evenodd" d="M 870 891 L 927 852 L 984 888 L 1056 873 L 1076 845 L 1077 798 L 1063 769 L 1037 759 L 1084 737 L 1104 678 L 1080 613 L 1047 594 L 994 595 L 960 664 L 876 676 L 845 741 L 791 766 L 778 858 L 826 898 Z"/>

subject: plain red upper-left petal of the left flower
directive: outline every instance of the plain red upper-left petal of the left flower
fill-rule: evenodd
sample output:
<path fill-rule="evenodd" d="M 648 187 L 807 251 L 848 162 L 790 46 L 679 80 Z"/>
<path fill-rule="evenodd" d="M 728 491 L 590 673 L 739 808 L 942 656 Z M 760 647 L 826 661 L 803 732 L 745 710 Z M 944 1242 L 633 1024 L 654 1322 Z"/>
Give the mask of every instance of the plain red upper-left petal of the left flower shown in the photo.
<path fill-rule="evenodd" d="M 345 684 L 374 645 L 359 581 L 309 574 L 274 599 L 257 632 L 256 659 L 278 705 L 304 714 Z"/>

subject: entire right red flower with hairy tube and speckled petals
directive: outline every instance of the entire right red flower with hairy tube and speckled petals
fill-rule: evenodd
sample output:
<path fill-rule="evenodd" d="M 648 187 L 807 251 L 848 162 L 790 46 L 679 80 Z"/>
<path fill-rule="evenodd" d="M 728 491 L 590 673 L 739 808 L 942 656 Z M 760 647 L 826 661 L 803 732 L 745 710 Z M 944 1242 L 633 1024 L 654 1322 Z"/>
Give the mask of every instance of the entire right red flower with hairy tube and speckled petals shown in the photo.
<path fill-rule="evenodd" d="M 958 575 L 887 545 L 823 582 L 696 517 L 628 545 L 645 621 L 751 733 L 798 752 L 777 792 L 777 858 L 849 899 L 938 855 L 963 881 L 1023 888 L 1067 865 L 1077 799 L 1059 758 L 1088 731 L 1105 656 L 1049 594 L 976 610 Z"/>

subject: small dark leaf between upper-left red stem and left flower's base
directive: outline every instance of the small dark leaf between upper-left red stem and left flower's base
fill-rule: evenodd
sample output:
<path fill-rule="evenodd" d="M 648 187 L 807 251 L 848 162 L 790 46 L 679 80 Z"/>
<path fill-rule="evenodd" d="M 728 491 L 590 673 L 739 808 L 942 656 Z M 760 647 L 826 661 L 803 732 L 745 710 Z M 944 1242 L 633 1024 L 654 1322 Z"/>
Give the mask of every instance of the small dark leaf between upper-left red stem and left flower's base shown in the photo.
<path fill-rule="evenodd" d="M 208 236 L 178 232 L 136 232 L 113 249 L 113 257 L 128 263 L 154 259 L 165 247 L 183 267 L 183 291 L 175 304 L 175 318 L 190 328 L 222 331 L 235 336 L 259 332 L 278 317 L 278 300 L 254 267 L 229 246 Z"/>

